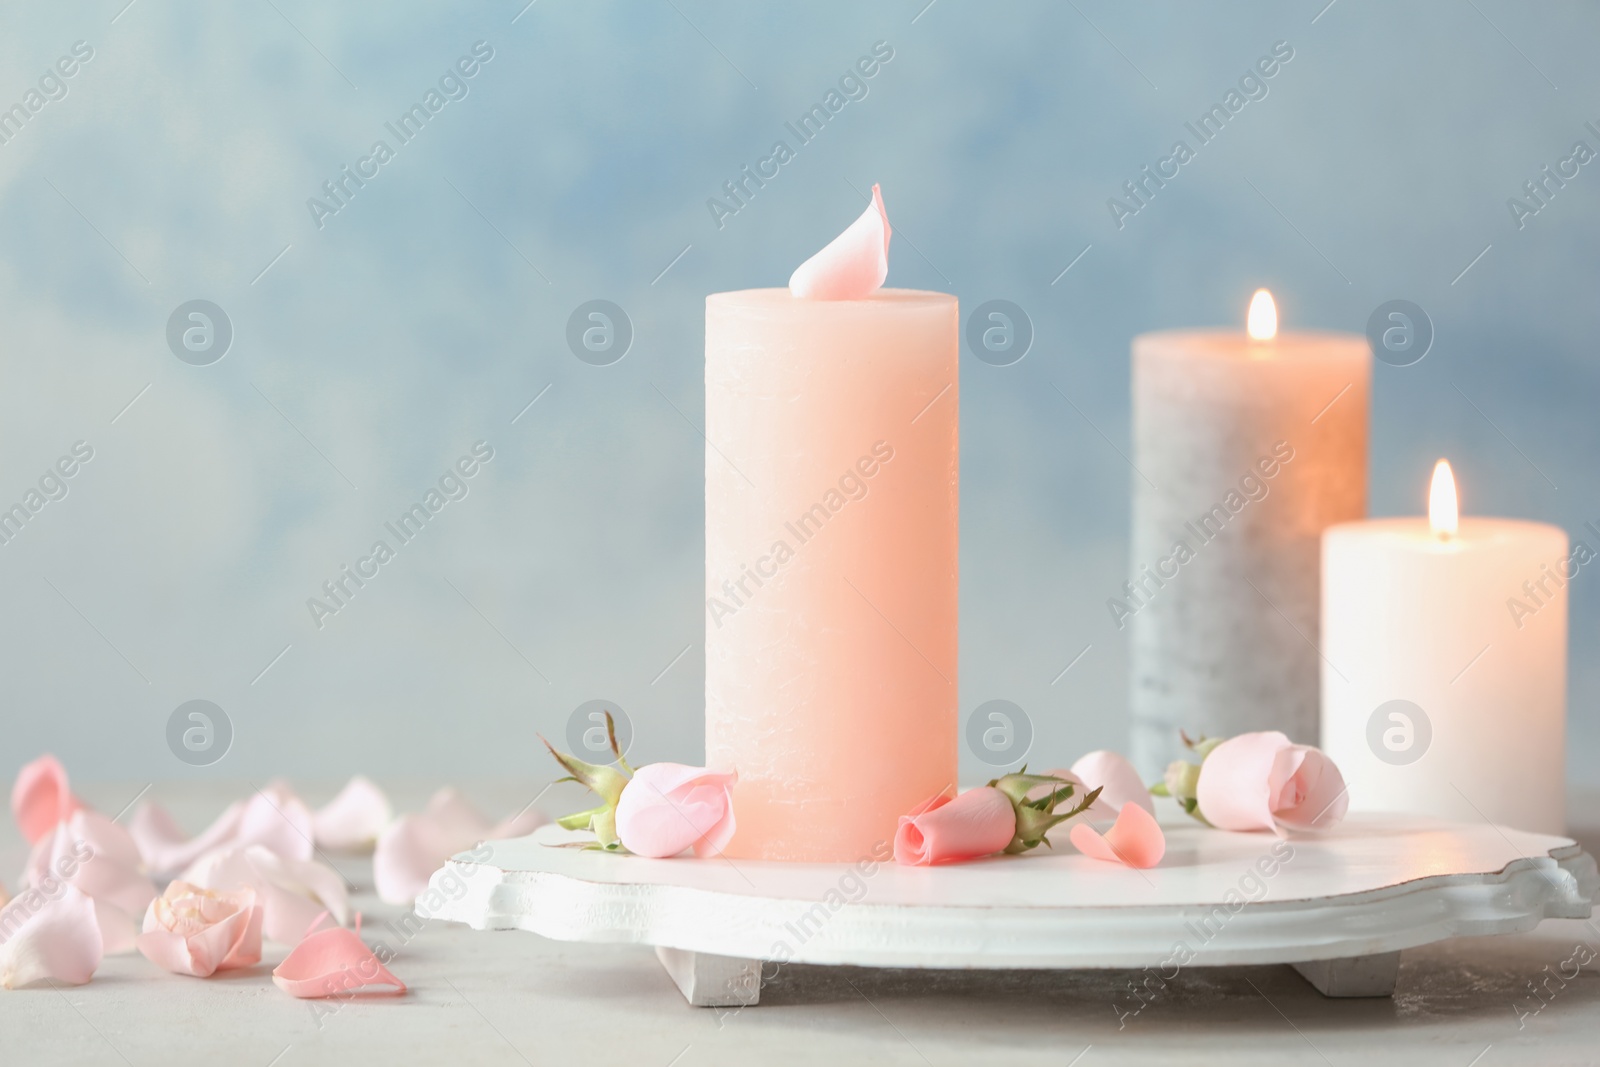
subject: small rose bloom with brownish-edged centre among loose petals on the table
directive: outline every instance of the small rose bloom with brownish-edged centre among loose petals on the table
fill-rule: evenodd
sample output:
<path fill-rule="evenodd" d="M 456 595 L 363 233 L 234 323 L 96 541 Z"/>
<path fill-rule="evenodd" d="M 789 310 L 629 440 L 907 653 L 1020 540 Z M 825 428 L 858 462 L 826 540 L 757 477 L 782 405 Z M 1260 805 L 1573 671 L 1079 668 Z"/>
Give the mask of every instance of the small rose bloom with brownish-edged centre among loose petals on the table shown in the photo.
<path fill-rule="evenodd" d="M 144 913 L 139 952 L 173 974 L 210 977 L 261 963 L 261 905 L 254 889 L 202 889 L 174 881 Z"/>

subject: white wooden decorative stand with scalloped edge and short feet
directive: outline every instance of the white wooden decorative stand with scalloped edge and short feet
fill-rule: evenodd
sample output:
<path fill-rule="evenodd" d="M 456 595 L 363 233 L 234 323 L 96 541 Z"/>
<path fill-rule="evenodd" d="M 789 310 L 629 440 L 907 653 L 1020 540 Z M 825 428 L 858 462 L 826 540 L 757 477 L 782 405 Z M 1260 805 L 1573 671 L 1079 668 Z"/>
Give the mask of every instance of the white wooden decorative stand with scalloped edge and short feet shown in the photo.
<path fill-rule="evenodd" d="M 691 1005 L 760 1000 L 784 963 L 1146 968 L 1290 963 L 1328 997 L 1387 997 L 1400 950 L 1587 918 L 1600 875 L 1574 841 L 1488 824 L 1350 816 L 1282 841 L 1170 824 L 1131 870 L 1069 845 L 949 867 L 642 859 L 541 827 L 458 857 L 419 897 L 475 929 L 656 945 Z"/>

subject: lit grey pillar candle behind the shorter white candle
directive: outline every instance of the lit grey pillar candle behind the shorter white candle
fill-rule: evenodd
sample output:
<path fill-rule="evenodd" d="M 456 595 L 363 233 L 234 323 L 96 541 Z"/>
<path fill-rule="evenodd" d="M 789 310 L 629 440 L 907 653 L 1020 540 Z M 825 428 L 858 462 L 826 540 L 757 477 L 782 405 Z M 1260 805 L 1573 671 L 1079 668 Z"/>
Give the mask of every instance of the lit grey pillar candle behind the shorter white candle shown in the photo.
<path fill-rule="evenodd" d="M 1275 328 L 1253 304 L 1253 336 L 1133 342 L 1131 558 L 1107 609 L 1131 633 L 1146 776 L 1181 729 L 1317 744 L 1322 531 L 1366 515 L 1371 349 Z"/>

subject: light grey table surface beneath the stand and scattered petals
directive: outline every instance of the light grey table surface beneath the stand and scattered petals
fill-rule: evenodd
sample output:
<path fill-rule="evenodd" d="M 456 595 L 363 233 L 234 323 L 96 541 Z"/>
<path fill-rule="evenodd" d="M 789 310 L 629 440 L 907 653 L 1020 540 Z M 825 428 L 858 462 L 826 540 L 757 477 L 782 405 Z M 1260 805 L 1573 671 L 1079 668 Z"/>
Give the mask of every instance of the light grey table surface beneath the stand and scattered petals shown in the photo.
<path fill-rule="evenodd" d="M 115 813 L 142 784 L 80 785 Z M 333 787 L 299 785 L 307 801 Z M 400 809 L 429 789 L 384 782 Z M 155 784 L 195 830 L 248 784 Z M 499 817 L 538 792 L 467 785 Z M 547 797 L 546 800 L 550 800 Z M 1573 797 L 1574 837 L 1597 853 L 1600 792 Z M 560 809 L 565 798 L 547 809 Z M 6 821 L 0 877 L 26 849 Z M 371 894 L 371 864 L 331 856 L 366 921 L 405 912 Z M 376 926 L 374 926 L 376 928 Z M 1597 957 L 1552 977 L 1579 945 Z M 0 1064 L 1600 1064 L 1600 921 L 1549 920 L 1520 936 L 1410 950 L 1392 1000 L 1325 1000 L 1286 966 L 1190 968 L 1136 1016 L 1131 971 L 786 968 L 744 1011 L 696 1009 L 635 945 L 576 945 L 432 923 L 390 969 L 406 997 L 293 1000 L 258 968 L 216 979 L 110 957 L 83 987 L 0 990 Z M 1579 957 L 1582 958 L 1582 957 Z M 1549 969 L 1546 969 L 1549 968 Z M 1566 968 L 1571 974 L 1571 968 Z M 1530 1013 L 1530 982 L 1546 982 Z"/>

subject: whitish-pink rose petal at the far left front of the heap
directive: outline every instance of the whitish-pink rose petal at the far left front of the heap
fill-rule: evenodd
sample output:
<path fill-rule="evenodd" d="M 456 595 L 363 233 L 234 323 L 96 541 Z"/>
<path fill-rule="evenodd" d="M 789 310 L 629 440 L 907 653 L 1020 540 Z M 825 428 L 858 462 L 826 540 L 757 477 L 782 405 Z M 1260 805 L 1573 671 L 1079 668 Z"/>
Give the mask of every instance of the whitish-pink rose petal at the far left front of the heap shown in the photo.
<path fill-rule="evenodd" d="M 26 889 L 0 909 L 0 985 L 19 989 L 45 979 L 82 985 L 99 968 L 94 902 L 70 885 L 56 893 Z"/>

